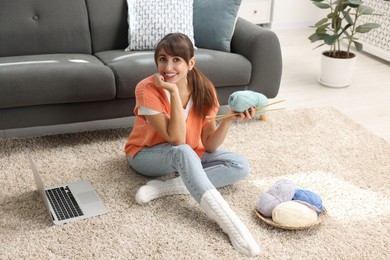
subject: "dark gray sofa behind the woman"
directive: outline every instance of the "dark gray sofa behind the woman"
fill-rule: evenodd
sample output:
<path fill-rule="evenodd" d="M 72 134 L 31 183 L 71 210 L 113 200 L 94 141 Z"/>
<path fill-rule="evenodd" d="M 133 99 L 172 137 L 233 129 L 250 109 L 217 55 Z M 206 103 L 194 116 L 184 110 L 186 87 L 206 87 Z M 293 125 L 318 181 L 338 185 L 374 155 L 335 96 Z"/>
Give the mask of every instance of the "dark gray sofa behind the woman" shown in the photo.
<path fill-rule="evenodd" d="M 152 51 L 124 51 L 127 34 L 126 0 L 1 0 L 0 131 L 131 117 L 136 84 L 156 68 Z M 278 93 L 268 29 L 239 18 L 231 53 L 196 57 L 222 105 L 237 90 Z"/>

